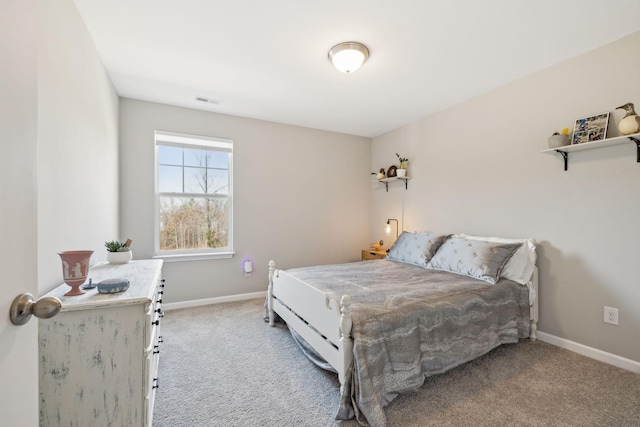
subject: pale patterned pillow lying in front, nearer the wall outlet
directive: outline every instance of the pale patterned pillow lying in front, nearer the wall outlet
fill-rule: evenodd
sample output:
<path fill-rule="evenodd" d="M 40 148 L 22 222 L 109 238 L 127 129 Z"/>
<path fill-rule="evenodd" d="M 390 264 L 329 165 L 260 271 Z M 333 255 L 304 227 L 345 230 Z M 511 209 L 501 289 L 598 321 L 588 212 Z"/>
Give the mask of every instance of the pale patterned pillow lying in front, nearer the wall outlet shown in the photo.
<path fill-rule="evenodd" d="M 495 284 L 521 243 L 496 243 L 451 237 L 440 246 L 427 268 L 463 274 Z"/>

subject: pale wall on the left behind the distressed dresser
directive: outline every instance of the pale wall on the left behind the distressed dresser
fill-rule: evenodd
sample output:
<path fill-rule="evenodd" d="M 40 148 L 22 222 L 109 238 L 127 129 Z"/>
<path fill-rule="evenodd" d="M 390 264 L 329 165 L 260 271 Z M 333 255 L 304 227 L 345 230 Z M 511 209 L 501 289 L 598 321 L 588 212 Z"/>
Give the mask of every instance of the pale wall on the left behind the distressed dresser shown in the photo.
<path fill-rule="evenodd" d="M 60 285 L 57 252 L 118 238 L 118 95 L 73 0 L 38 2 L 38 283 Z"/>

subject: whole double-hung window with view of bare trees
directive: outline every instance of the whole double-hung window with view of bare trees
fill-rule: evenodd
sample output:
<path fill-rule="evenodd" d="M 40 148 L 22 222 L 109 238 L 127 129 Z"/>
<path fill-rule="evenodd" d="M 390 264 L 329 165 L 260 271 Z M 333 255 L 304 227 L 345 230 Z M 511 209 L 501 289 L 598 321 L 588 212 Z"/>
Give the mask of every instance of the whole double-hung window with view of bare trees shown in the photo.
<path fill-rule="evenodd" d="M 233 255 L 233 141 L 156 131 L 156 256 Z"/>

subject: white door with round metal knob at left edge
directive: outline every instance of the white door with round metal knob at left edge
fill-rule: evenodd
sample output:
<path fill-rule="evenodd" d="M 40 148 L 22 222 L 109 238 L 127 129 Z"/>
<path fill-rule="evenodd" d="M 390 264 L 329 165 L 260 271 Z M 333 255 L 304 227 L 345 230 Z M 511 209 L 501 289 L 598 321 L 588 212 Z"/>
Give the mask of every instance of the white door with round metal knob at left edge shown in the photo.
<path fill-rule="evenodd" d="M 38 425 L 38 322 L 9 321 L 37 296 L 37 0 L 0 2 L 0 424 Z"/>

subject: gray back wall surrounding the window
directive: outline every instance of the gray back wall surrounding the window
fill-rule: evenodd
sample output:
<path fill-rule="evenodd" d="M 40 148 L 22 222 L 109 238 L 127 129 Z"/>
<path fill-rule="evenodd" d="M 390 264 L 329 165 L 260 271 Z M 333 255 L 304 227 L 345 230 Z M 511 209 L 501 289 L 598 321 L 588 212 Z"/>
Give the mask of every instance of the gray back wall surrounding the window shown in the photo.
<path fill-rule="evenodd" d="M 154 255 L 156 129 L 234 141 L 236 255 L 165 263 L 165 302 L 265 291 L 270 259 L 280 268 L 354 261 L 368 246 L 368 138 L 123 98 L 120 222 L 134 258 Z"/>

